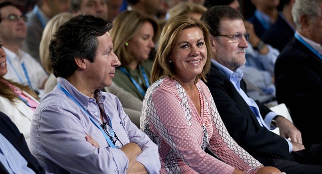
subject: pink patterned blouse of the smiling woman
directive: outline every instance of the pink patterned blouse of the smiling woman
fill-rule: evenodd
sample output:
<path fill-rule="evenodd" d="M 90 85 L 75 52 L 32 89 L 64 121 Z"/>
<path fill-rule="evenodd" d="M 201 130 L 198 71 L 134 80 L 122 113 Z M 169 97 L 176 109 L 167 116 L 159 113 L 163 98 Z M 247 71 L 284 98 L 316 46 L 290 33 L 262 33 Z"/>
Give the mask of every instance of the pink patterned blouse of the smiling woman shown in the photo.
<path fill-rule="evenodd" d="M 182 85 L 169 77 L 155 81 L 145 94 L 140 128 L 158 145 L 160 173 L 232 173 L 234 168 L 255 173 L 262 164 L 231 138 L 205 83 L 196 86 L 201 116 Z"/>

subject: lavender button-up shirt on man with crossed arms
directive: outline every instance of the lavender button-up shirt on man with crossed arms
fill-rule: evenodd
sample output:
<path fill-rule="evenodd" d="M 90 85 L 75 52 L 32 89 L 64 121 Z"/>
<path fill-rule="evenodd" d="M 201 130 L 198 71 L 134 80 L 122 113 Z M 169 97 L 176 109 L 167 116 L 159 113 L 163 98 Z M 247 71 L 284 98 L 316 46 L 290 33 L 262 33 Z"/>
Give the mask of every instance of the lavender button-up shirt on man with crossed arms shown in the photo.
<path fill-rule="evenodd" d="M 57 82 L 100 125 L 99 105 L 94 98 L 79 93 L 66 79 Z M 112 122 L 113 129 L 124 144 L 133 142 L 142 152 L 136 161 L 149 173 L 159 173 L 157 146 L 139 130 L 123 111 L 118 98 L 96 90 L 95 97 Z M 104 118 L 104 122 L 108 119 Z M 120 149 L 111 148 L 87 113 L 57 86 L 44 96 L 34 112 L 31 125 L 31 152 L 48 172 L 53 173 L 125 173 L 128 158 Z M 99 148 L 85 140 L 91 135 Z"/>

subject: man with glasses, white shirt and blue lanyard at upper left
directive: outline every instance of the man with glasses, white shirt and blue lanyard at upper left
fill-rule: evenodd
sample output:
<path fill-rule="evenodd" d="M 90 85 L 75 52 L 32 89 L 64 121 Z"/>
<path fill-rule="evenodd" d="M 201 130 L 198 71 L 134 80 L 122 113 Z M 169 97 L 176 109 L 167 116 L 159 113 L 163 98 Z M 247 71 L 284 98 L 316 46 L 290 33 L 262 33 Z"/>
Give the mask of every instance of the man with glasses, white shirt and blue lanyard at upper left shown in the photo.
<path fill-rule="evenodd" d="M 38 61 L 21 49 L 27 36 L 27 17 L 13 4 L 2 3 L 0 19 L 0 40 L 7 53 L 8 73 L 4 77 L 27 84 L 41 94 L 48 74 Z"/>

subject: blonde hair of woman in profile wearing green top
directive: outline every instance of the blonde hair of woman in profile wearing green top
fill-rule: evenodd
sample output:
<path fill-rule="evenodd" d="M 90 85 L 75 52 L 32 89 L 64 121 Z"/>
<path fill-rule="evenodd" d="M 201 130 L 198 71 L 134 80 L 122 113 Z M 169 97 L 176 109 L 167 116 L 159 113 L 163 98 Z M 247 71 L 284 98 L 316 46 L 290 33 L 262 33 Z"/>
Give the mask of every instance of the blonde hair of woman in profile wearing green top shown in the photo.
<path fill-rule="evenodd" d="M 113 21 L 113 28 L 110 34 L 113 40 L 114 53 L 119 58 L 121 66 L 126 67 L 134 60 L 133 55 L 126 49 L 125 43 L 134 37 L 145 22 L 149 22 L 152 25 L 154 31 L 153 41 L 156 42 L 159 25 L 150 16 L 131 10 L 122 12 Z"/>

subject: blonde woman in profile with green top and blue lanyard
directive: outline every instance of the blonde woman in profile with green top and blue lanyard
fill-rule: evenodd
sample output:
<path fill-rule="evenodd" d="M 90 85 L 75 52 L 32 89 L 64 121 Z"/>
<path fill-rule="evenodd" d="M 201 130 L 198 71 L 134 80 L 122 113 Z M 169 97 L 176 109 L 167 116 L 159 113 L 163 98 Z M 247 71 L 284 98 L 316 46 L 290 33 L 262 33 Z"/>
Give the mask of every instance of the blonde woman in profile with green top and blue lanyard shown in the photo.
<path fill-rule="evenodd" d="M 114 52 L 121 62 L 113 81 L 141 101 L 150 85 L 151 50 L 158 37 L 155 19 L 138 11 L 119 14 L 111 30 Z"/>

